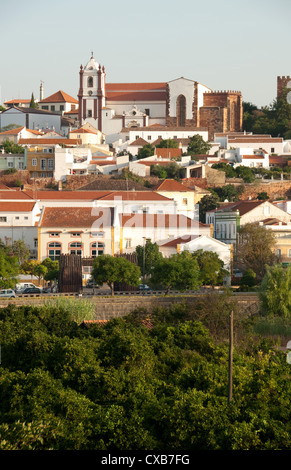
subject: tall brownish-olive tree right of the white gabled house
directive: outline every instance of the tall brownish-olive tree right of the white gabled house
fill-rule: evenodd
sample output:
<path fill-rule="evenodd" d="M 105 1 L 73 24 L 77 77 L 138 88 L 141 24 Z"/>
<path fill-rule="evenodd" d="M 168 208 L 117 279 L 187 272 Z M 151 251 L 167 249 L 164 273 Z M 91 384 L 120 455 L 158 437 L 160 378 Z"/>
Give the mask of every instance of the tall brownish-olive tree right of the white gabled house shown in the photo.
<path fill-rule="evenodd" d="M 276 237 L 274 233 L 257 223 L 248 223 L 240 228 L 235 258 L 243 269 L 252 269 L 262 280 L 266 266 L 277 261 L 274 254 Z"/>

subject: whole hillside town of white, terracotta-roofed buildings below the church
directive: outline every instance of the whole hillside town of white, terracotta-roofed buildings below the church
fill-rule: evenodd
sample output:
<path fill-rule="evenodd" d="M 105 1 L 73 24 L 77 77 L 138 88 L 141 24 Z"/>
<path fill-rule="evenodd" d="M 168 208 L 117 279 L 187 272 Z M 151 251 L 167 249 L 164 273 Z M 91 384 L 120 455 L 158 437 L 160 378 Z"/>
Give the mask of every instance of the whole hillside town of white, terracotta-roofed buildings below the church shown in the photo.
<path fill-rule="evenodd" d="M 92 55 L 77 98 L 46 97 L 41 82 L 39 99 L 3 103 L 2 244 L 21 240 L 42 263 L 130 257 L 150 240 L 163 257 L 216 253 L 231 285 L 243 275 L 240 230 L 252 223 L 275 235 L 273 251 L 289 265 L 291 139 L 246 130 L 239 91 L 105 77 Z M 289 80 L 278 77 L 277 101 Z M 84 261 L 81 287 L 91 271 Z"/>

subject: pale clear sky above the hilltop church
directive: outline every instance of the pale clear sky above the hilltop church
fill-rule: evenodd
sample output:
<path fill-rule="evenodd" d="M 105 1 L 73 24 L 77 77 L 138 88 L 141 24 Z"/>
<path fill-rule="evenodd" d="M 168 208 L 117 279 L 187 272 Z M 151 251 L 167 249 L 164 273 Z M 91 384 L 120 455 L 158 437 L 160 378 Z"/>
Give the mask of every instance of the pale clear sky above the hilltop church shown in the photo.
<path fill-rule="evenodd" d="M 291 76 L 290 0 L 0 0 L 0 104 L 77 98 L 91 51 L 108 83 L 179 77 L 258 107 Z"/>

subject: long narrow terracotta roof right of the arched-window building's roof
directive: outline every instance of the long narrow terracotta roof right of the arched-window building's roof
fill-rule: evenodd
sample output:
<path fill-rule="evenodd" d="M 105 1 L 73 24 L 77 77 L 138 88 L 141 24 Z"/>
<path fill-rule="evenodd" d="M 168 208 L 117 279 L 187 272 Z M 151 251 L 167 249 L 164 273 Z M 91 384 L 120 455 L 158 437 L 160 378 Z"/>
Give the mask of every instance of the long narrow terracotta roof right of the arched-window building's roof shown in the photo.
<path fill-rule="evenodd" d="M 122 227 L 196 229 L 200 223 L 182 214 L 120 214 Z"/>

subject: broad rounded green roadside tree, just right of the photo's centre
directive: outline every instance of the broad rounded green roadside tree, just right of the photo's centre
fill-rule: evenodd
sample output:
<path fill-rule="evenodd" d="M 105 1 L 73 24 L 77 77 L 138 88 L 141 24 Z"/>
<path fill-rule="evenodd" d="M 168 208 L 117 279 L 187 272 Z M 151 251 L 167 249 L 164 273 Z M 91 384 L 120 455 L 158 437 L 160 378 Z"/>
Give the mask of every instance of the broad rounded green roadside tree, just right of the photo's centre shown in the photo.
<path fill-rule="evenodd" d="M 185 291 L 200 286 L 198 262 L 188 251 L 159 260 L 152 271 L 151 283 L 170 289 Z"/>

